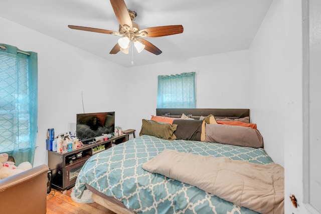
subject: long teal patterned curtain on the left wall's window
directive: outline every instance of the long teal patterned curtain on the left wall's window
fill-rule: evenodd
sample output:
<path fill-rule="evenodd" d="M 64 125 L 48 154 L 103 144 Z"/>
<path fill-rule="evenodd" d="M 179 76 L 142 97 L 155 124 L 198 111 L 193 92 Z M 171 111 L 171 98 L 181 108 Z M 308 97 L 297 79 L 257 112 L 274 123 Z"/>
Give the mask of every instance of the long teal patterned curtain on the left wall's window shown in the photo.
<path fill-rule="evenodd" d="M 16 165 L 34 162 L 37 118 L 37 53 L 0 44 L 0 153 Z"/>

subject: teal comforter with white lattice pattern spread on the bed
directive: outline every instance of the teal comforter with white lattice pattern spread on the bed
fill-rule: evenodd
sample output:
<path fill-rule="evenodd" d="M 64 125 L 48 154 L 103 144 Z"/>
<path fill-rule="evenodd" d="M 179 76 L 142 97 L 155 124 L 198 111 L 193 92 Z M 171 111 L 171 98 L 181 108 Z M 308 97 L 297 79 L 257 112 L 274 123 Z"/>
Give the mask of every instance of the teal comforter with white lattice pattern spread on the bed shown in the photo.
<path fill-rule="evenodd" d="M 75 196 L 80 198 L 86 189 L 85 183 L 88 183 L 138 213 L 257 213 L 195 186 L 141 168 L 142 163 L 165 148 L 258 164 L 273 162 L 262 148 L 188 140 L 168 141 L 142 135 L 90 157 L 77 177 Z"/>

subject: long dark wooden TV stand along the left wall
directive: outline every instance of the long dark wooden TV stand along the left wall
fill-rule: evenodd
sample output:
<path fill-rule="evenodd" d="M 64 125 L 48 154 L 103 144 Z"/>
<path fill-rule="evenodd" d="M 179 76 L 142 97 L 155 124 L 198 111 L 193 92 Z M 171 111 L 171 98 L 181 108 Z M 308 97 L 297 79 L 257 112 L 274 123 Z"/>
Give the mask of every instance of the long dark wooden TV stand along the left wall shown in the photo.
<path fill-rule="evenodd" d="M 112 144 L 119 144 L 129 140 L 129 135 L 133 134 L 135 136 L 134 133 L 135 130 L 130 129 L 130 132 L 120 136 L 83 144 L 80 148 L 66 153 L 48 151 L 48 166 L 52 170 L 52 186 L 61 191 L 73 187 L 80 169 L 88 158 L 97 152 L 110 148 Z"/>

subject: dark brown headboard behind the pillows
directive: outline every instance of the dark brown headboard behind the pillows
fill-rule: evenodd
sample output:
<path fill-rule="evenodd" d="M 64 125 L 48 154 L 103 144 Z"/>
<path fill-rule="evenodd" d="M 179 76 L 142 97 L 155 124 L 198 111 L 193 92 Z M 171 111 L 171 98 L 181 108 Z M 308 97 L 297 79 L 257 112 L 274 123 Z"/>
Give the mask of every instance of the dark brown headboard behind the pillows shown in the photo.
<path fill-rule="evenodd" d="M 250 109 L 230 109 L 230 108 L 156 108 L 157 116 L 179 118 L 182 114 L 191 118 L 199 119 L 200 116 L 214 115 L 215 118 L 242 118 L 250 117 Z"/>

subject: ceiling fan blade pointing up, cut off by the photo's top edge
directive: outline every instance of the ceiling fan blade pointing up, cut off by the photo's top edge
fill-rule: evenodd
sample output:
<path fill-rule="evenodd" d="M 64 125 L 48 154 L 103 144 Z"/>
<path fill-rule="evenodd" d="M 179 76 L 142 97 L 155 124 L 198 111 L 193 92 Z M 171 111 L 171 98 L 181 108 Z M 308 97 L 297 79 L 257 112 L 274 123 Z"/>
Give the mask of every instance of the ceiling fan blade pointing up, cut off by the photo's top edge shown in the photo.
<path fill-rule="evenodd" d="M 124 0 L 110 0 L 111 7 L 114 10 L 114 13 L 117 17 L 119 24 L 124 27 L 124 25 L 129 26 L 130 30 L 132 30 L 132 23 L 130 16 L 128 14 L 127 7 L 125 5 Z"/>

